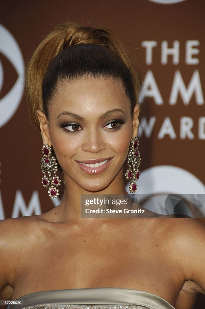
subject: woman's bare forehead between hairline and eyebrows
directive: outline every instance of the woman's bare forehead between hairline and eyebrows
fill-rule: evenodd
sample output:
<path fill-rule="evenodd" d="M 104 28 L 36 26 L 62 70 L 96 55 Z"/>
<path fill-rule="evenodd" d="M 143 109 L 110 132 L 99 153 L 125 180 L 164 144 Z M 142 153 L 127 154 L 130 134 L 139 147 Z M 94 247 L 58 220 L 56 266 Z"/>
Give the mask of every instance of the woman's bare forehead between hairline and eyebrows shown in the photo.
<path fill-rule="evenodd" d="M 130 100 L 122 83 L 113 78 L 80 78 L 58 85 L 49 113 L 55 117 L 63 111 L 100 114 L 120 108 L 130 113 Z"/>

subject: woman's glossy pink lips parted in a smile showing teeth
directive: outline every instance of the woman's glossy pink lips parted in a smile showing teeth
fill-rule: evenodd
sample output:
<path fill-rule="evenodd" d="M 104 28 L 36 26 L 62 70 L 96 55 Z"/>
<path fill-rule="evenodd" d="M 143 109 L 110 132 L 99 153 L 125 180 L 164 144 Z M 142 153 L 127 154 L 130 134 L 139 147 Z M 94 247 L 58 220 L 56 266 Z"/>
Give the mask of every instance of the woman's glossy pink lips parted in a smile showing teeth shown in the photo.
<path fill-rule="evenodd" d="M 112 158 L 100 158 L 76 162 L 87 174 L 100 174 L 107 169 L 111 159 Z"/>

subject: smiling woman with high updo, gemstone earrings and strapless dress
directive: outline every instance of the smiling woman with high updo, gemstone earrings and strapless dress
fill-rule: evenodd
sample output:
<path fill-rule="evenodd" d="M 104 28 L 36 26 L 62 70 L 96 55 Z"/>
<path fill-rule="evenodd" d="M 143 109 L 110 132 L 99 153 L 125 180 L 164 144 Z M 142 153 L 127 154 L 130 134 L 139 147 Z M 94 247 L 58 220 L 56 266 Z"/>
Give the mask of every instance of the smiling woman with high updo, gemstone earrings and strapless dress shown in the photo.
<path fill-rule="evenodd" d="M 190 309 L 205 293 L 205 229 L 195 220 L 81 218 L 82 194 L 126 194 L 130 143 L 127 178 L 137 189 L 138 91 L 132 61 L 104 29 L 64 23 L 31 58 L 42 183 L 57 196 L 57 159 L 65 192 L 48 213 L 1 222 L 1 299 L 24 301 L 15 308 Z"/>

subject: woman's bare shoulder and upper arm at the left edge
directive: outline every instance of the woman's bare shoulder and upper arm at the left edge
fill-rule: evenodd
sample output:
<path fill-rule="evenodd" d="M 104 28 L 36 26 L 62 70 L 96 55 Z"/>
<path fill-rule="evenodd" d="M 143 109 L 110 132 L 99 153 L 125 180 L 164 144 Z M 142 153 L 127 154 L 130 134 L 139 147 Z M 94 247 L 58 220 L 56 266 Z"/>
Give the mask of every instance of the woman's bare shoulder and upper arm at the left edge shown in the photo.
<path fill-rule="evenodd" d="M 10 299 L 15 273 L 40 234 L 40 216 L 0 221 L 0 299 Z"/>

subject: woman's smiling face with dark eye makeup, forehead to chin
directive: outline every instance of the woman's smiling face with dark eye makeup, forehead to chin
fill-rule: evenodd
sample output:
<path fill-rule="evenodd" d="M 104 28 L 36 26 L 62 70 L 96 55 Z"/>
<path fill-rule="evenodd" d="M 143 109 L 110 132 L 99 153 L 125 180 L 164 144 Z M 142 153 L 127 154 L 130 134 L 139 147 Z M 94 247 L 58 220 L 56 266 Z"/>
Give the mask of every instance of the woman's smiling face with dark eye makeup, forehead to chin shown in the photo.
<path fill-rule="evenodd" d="M 111 78 L 82 78 L 58 87 L 49 107 L 49 138 L 65 185 L 95 192 L 116 179 L 132 139 L 130 101 Z"/>

